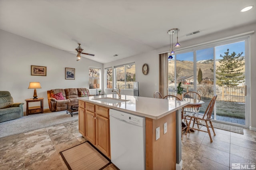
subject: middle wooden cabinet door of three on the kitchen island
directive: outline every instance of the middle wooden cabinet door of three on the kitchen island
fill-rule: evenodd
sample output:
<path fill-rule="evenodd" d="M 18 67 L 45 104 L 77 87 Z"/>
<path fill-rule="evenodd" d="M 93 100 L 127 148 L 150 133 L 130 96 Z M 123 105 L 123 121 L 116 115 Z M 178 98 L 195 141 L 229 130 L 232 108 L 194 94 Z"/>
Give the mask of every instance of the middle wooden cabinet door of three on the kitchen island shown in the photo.
<path fill-rule="evenodd" d="M 92 144 L 95 144 L 95 113 L 85 112 L 85 136 Z"/>

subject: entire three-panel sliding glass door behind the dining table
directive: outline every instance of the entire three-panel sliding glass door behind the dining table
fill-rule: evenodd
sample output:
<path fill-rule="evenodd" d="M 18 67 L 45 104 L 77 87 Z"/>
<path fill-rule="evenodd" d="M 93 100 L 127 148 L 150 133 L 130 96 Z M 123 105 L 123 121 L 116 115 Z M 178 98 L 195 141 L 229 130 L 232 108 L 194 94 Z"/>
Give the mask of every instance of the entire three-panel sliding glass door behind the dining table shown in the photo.
<path fill-rule="evenodd" d="M 186 91 L 196 91 L 205 102 L 218 95 L 213 119 L 248 127 L 249 38 L 219 42 L 205 47 L 180 51 L 168 61 L 169 94 L 175 94 L 179 82 Z"/>

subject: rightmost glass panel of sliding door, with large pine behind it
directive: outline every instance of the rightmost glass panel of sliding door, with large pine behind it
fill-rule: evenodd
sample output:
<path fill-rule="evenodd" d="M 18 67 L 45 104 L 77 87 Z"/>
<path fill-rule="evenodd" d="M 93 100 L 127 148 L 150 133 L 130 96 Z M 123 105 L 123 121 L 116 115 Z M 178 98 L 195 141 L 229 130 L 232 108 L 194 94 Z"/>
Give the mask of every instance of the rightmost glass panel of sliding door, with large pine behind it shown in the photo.
<path fill-rule="evenodd" d="M 245 41 L 215 47 L 216 102 L 215 119 L 246 125 Z"/>

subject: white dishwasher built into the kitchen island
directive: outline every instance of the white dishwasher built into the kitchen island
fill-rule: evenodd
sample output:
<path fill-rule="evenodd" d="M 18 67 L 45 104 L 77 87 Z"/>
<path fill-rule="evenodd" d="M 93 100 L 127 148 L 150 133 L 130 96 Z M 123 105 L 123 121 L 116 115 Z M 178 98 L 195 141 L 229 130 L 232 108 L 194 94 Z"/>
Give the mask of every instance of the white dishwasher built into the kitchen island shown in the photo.
<path fill-rule="evenodd" d="M 145 170 L 145 117 L 109 110 L 111 162 L 120 170 Z"/>

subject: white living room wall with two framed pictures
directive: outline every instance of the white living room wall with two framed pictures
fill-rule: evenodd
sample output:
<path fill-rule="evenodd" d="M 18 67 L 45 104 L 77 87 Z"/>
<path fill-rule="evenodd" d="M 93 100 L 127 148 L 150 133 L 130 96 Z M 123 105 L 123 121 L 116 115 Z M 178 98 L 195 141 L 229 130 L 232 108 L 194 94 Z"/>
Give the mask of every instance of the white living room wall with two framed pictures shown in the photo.
<path fill-rule="evenodd" d="M 31 75 L 31 65 L 46 66 L 46 76 Z M 75 68 L 75 80 L 65 79 L 65 67 Z M 84 57 L 76 61 L 76 53 L 0 30 L 0 91 L 10 91 L 15 103 L 25 103 L 24 109 L 24 100 L 34 94 L 34 89 L 28 89 L 30 81 L 40 82 L 42 89 L 36 89 L 37 95 L 44 98 L 44 108 L 48 108 L 47 90 L 89 89 L 89 67 L 103 70 L 102 63 Z M 90 93 L 95 94 L 95 89 Z"/>

